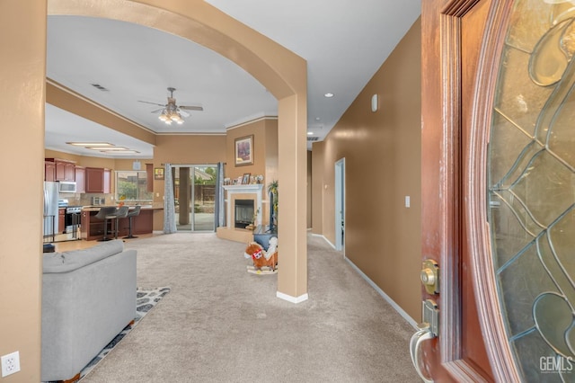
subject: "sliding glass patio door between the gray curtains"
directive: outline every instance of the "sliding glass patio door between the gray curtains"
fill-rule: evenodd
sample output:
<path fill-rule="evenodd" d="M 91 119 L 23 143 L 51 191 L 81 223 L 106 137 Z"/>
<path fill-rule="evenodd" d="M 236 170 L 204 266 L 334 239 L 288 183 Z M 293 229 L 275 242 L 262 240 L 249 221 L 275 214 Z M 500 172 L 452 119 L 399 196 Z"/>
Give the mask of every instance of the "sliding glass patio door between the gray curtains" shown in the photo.
<path fill-rule="evenodd" d="M 216 230 L 217 165 L 174 165 L 173 193 L 179 232 Z"/>

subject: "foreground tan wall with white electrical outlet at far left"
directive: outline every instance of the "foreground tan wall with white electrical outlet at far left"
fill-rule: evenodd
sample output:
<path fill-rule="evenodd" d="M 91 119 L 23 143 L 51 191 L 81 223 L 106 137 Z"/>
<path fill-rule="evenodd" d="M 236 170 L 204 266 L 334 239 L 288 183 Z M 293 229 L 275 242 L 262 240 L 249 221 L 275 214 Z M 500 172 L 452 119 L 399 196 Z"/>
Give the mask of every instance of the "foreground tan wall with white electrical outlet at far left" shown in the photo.
<path fill-rule="evenodd" d="M 38 382 L 46 0 L 0 2 L 0 56 L 0 355 L 21 367 L 0 380 Z"/>

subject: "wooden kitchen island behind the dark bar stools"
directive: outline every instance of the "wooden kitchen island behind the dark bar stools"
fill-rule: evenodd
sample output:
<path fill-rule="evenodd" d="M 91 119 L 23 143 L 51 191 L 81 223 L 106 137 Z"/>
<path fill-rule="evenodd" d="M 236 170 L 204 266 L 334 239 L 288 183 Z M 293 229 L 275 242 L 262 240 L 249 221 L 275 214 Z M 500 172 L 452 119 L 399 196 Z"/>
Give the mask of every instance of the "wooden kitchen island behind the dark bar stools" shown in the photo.
<path fill-rule="evenodd" d="M 98 211 L 103 206 L 84 206 L 81 212 L 82 224 L 80 226 L 80 237 L 87 241 L 99 240 L 104 236 L 104 220 L 95 218 Z M 134 207 L 130 206 L 130 209 Z M 164 209 L 157 208 L 153 205 L 142 205 L 140 214 L 132 218 L 132 234 L 149 234 L 154 230 L 154 210 Z M 116 220 L 108 220 L 108 229 L 115 230 Z M 119 218 L 118 220 L 118 237 L 128 236 L 129 220 L 128 218 Z M 110 233 L 109 233 L 109 236 Z"/>

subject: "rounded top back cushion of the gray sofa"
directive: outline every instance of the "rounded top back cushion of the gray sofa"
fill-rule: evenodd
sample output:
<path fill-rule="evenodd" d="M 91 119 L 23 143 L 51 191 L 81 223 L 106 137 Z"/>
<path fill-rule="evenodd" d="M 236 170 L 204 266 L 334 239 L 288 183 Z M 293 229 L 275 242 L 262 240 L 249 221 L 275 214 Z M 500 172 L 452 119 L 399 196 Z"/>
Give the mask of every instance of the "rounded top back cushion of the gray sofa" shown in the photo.
<path fill-rule="evenodd" d="M 124 242 L 115 239 L 109 242 L 81 250 L 72 250 L 64 253 L 44 253 L 42 269 L 49 272 L 71 272 L 87 264 L 98 262 L 113 254 L 124 250 Z"/>

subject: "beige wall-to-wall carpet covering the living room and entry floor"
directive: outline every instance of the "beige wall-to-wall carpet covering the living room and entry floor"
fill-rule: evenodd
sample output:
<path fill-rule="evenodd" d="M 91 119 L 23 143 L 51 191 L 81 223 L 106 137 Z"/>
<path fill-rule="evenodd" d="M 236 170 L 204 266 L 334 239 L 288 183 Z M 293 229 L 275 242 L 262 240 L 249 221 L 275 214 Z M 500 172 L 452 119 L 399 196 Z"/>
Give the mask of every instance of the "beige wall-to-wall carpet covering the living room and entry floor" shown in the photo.
<path fill-rule="evenodd" d="M 246 272 L 245 245 L 215 234 L 126 247 L 139 286 L 172 290 L 83 383 L 420 381 L 411 325 L 321 238 L 308 237 L 309 299 L 297 305 L 276 298 L 277 275 Z"/>

